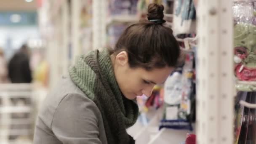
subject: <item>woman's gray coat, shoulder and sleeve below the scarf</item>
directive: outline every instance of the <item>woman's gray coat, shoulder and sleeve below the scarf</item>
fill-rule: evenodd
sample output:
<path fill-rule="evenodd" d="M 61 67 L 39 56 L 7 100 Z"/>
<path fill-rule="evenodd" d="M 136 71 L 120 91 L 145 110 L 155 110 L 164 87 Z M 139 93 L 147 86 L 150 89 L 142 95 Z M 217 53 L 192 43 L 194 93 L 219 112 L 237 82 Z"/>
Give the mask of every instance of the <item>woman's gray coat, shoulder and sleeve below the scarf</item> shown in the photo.
<path fill-rule="evenodd" d="M 101 112 L 69 77 L 46 97 L 34 144 L 107 144 Z"/>

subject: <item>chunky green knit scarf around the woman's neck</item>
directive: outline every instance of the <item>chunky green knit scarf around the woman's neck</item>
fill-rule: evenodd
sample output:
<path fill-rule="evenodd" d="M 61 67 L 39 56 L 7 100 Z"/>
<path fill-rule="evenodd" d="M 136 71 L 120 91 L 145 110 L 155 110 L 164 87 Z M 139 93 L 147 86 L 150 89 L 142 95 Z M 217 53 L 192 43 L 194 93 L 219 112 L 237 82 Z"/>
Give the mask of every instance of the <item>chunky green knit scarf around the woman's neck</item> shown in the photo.
<path fill-rule="evenodd" d="M 136 122 L 138 106 L 121 93 L 107 49 L 79 56 L 69 75 L 99 108 L 108 144 L 134 144 L 126 128 Z"/>

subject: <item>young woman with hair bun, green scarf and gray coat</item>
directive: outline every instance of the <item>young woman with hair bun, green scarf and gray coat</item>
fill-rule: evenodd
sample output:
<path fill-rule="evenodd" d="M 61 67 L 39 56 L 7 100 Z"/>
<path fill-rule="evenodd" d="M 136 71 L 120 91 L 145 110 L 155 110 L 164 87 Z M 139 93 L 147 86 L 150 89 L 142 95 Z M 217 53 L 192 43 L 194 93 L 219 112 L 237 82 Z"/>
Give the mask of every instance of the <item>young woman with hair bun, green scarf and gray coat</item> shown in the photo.
<path fill-rule="evenodd" d="M 129 26 L 113 50 L 79 56 L 39 113 L 34 144 L 134 144 L 126 132 L 138 117 L 136 96 L 150 96 L 176 66 L 179 45 L 164 27 L 163 5 Z"/>

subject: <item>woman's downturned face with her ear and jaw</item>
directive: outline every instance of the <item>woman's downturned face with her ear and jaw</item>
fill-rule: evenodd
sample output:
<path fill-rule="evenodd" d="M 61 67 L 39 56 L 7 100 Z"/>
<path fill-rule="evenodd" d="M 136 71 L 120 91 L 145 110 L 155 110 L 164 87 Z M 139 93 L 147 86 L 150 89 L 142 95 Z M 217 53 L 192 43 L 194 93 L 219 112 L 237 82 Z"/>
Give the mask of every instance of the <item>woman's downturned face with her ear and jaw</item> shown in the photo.
<path fill-rule="evenodd" d="M 120 90 L 127 99 L 136 96 L 150 96 L 156 84 L 162 84 L 171 74 L 173 68 L 156 68 L 147 71 L 144 68 L 131 68 L 128 64 L 128 54 L 125 51 L 111 56 L 115 77 Z"/>

